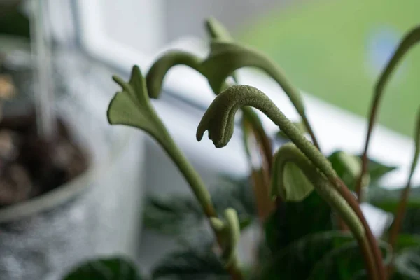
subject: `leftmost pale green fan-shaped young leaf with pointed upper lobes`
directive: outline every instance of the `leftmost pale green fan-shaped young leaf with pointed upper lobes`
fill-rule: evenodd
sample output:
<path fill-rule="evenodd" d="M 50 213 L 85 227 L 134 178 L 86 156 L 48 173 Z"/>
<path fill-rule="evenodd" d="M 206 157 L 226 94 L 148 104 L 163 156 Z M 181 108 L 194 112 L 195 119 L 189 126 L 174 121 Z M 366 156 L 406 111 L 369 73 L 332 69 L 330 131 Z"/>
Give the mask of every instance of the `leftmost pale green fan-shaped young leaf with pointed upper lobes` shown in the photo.
<path fill-rule="evenodd" d="M 134 66 L 130 81 L 126 83 L 118 76 L 113 80 L 123 88 L 117 92 L 107 111 L 111 125 L 129 125 L 144 130 L 159 142 L 169 141 L 169 134 L 153 109 L 146 89 L 146 81 L 139 69 Z"/>

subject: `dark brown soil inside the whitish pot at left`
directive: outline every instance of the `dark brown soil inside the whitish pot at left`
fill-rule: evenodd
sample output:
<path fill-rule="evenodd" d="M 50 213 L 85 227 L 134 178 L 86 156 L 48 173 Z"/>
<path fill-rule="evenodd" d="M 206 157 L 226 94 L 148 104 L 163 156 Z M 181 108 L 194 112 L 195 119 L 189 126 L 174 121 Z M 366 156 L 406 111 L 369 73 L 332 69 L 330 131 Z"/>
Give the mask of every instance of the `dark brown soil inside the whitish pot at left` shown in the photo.
<path fill-rule="evenodd" d="M 47 193 L 87 169 L 87 153 L 57 120 L 52 141 L 38 137 L 34 113 L 0 121 L 0 208 Z"/>

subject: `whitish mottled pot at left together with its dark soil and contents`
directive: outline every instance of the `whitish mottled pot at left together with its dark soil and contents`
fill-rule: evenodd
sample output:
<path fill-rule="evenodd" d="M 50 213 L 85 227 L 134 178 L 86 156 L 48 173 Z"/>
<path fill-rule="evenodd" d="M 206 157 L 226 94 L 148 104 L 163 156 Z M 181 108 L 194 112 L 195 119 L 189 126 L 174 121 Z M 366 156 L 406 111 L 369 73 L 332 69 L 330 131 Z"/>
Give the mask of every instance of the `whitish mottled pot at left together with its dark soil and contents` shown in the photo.
<path fill-rule="evenodd" d="M 103 96 L 92 73 L 109 70 L 78 52 L 51 48 L 47 78 L 55 81 L 55 99 L 43 102 L 56 129 L 47 139 L 39 133 L 41 91 L 31 75 L 38 66 L 29 43 L 0 40 L 0 279 L 57 279 L 93 255 L 134 257 L 141 226 L 135 215 L 141 207 L 141 138 L 111 130 L 97 115 Z M 125 180 L 117 188 L 120 174 Z"/>

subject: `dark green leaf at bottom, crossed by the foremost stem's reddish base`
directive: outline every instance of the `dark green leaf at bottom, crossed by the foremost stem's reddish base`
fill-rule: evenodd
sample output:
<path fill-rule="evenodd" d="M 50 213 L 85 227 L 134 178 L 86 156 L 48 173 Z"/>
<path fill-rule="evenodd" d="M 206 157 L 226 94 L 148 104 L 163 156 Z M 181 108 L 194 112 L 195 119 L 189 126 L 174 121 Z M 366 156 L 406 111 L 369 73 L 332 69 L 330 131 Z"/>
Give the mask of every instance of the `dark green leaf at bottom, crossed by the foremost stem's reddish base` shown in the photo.
<path fill-rule="evenodd" d="M 384 256 L 384 265 L 391 262 L 391 246 L 379 241 L 379 248 Z M 356 241 L 332 249 L 311 270 L 308 280 L 356 279 L 365 276 L 363 255 Z"/>

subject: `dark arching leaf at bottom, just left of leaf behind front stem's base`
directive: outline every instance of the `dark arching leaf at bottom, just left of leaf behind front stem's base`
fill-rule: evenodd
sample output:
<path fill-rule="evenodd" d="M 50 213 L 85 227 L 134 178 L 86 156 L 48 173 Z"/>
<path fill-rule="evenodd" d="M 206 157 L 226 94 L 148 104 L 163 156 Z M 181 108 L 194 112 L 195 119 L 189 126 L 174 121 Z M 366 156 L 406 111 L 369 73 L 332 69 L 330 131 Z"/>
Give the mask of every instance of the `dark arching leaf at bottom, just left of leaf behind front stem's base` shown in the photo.
<path fill-rule="evenodd" d="M 263 267 L 260 279 L 307 279 L 318 260 L 332 249 L 353 240 L 351 235 L 342 232 L 321 232 L 302 237 L 276 253 Z"/>

